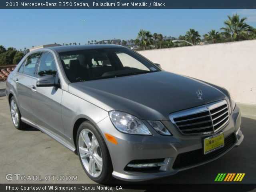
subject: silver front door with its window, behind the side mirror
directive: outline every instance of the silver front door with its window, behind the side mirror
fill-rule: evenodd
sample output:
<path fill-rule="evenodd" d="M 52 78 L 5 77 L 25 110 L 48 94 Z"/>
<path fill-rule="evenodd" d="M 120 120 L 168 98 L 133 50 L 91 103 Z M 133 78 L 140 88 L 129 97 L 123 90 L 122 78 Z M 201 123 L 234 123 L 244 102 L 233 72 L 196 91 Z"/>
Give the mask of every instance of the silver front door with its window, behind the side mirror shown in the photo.
<path fill-rule="evenodd" d="M 49 52 L 43 52 L 36 76 L 55 76 L 55 82 L 59 82 L 56 62 Z M 56 87 L 37 87 L 33 80 L 31 102 L 33 106 L 35 123 L 64 138 L 64 129 L 61 117 L 62 89 Z"/>

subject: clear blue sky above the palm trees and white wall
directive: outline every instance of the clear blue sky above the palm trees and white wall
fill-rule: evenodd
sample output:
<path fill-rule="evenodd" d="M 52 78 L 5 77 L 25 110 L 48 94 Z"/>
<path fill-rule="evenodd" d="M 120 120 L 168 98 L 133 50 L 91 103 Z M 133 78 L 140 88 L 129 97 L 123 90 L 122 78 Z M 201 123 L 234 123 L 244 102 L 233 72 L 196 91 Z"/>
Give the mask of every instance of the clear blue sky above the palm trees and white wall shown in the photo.
<path fill-rule="evenodd" d="M 212 29 L 219 30 L 227 15 L 236 12 L 256 27 L 256 9 L 0 10 L 0 44 L 23 50 L 54 42 L 130 40 L 140 29 L 178 37 L 194 28 L 202 36 Z"/>

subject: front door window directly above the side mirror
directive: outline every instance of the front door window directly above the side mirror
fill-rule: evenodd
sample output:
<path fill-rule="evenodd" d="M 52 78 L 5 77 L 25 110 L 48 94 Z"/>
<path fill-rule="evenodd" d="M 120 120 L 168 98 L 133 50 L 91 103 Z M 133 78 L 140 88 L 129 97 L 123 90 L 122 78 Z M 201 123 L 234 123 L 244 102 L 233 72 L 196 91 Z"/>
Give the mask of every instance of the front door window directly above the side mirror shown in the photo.
<path fill-rule="evenodd" d="M 42 54 L 37 74 L 38 76 L 56 75 L 56 64 L 50 53 Z"/>

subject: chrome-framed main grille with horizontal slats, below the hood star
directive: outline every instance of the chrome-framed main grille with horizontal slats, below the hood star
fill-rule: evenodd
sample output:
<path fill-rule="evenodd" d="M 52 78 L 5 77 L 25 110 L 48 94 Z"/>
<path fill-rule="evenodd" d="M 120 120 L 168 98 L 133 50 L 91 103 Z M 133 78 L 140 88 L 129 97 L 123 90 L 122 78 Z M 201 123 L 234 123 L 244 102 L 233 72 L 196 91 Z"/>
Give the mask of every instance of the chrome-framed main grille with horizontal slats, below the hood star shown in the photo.
<path fill-rule="evenodd" d="M 210 134 L 222 128 L 229 120 L 226 100 L 170 114 L 170 120 L 181 134 Z"/>

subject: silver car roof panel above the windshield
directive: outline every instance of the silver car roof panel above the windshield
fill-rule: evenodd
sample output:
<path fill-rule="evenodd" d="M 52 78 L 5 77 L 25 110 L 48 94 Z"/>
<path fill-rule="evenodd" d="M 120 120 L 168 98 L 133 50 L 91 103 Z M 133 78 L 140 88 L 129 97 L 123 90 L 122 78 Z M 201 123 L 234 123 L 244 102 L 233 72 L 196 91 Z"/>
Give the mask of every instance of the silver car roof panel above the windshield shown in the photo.
<path fill-rule="evenodd" d="M 106 48 L 125 48 L 124 46 L 114 44 L 94 44 L 94 45 L 70 45 L 70 46 L 56 46 L 48 47 L 47 49 L 55 50 L 56 52 L 68 52 L 86 49 L 106 49 Z M 40 49 L 38 49 L 40 50 Z"/>

